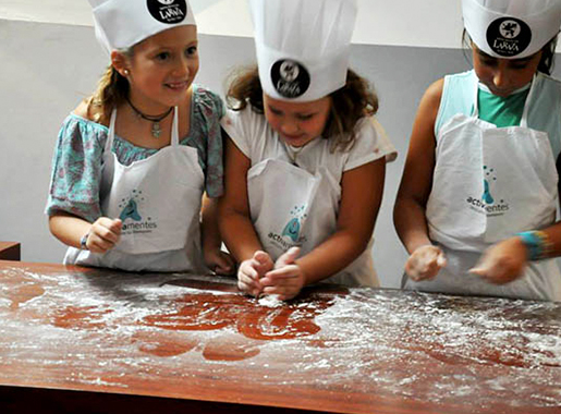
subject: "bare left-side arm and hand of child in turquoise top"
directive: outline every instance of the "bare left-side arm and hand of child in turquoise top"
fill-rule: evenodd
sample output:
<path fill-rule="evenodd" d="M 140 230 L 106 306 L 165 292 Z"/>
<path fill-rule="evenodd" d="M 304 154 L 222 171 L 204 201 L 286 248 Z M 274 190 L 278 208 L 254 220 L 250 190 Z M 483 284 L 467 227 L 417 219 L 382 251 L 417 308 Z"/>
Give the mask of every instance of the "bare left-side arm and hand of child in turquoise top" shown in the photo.
<path fill-rule="evenodd" d="M 395 230 L 411 254 L 406 273 L 414 280 L 434 278 L 446 265 L 442 251 L 431 244 L 425 216 L 435 169 L 435 122 L 443 80 L 430 85 L 423 96 L 410 141 L 405 168 L 393 208 Z"/>

